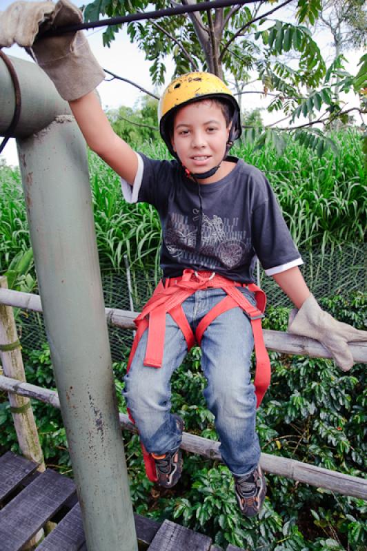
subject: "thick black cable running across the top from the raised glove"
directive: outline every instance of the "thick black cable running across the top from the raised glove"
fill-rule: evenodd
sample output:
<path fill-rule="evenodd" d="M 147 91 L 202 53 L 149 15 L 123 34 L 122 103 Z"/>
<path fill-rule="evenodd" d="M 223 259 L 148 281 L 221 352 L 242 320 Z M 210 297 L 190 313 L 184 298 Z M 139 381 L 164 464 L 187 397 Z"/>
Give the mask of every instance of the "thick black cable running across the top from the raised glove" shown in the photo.
<path fill-rule="evenodd" d="M 212 0 L 208 2 L 199 2 L 197 4 L 190 4 L 186 6 L 177 6 L 175 8 L 165 8 L 163 10 L 154 10 L 152 12 L 145 13 L 132 13 L 128 15 L 122 15 L 119 17 L 112 17 L 111 19 L 102 19 L 101 21 L 91 21 L 89 23 L 78 23 L 77 25 L 66 25 L 63 27 L 52 27 L 39 38 L 54 37 L 59 34 L 65 34 L 66 32 L 76 32 L 83 29 L 95 29 L 97 27 L 105 27 L 108 25 L 121 25 L 121 23 L 132 23 L 133 21 L 141 21 L 143 19 L 159 19 L 168 15 L 181 15 L 191 12 L 205 12 L 210 9 L 227 8 L 229 6 L 239 6 L 244 4 L 252 4 L 257 0 Z"/>

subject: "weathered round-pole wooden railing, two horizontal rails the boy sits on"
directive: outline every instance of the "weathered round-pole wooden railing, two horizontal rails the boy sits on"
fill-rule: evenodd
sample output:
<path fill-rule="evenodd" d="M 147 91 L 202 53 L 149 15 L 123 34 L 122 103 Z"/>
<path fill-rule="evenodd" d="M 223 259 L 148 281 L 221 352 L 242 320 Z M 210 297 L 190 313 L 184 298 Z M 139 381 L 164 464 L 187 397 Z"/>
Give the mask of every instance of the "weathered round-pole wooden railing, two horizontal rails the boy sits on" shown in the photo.
<path fill-rule="evenodd" d="M 17 306 L 37 312 L 42 311 L 41 300 L 38 295 L 20 293 L 19 291 L 8 289 L 0 289 L 0 304 Z M 108 324 L 119 326 L 122 329 L 135 329 L 133 320 L 136 316 L 136 312 L 106 309 Z M 330 357 L 324 346 L 306 337 L 297 337 L 280 331 L 264 331 L 264 340 L 268 349 L 281 353 Z M 350 344 L 350 350 L 353 353 L 355 362 L 367 362 L 366 344 Z M 60 408 L 57 392 L 50 391 L 47 388 L 41 388 L 3 375 L 0 375 L 0 388 L 3 391 L 8 391 L 8 393 L 39 399 L 41 402 L 46 402 L 55 408 Z M 135 425 L 129 421 L 127 415 L 120 413 L 119 418 L 122 428 L 136 432 Z M 217 441 L 184 433 L 181 447 L 190 453 L 196 453 L 209 459 L 221 460 L 219 442 Z M 317 488 L 326 488 L 343 495 L 367 499 L 367 481 L 359 477 L 352 477 L 341 472 L 296 461 L 295 459 L 267 453 L 261 454 L 260 463 L 266 472 L 304 482 Z"/>

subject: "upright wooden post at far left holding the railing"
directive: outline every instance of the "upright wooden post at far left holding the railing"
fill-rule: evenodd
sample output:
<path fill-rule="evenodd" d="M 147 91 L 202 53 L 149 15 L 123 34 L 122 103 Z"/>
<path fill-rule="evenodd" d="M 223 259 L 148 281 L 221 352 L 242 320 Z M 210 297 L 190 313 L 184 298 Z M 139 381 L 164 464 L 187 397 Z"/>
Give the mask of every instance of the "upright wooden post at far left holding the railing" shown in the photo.
<path fill-rule="evenodd" d="M 8 280 L 4 276 L 0 277 L 0 288 L 8 289 Z M 11 306 L 4 306 L 3 304 L 0 304 L 0 358 L 3 373 L 6 377 L 26 382 L 14 313 Z M 9 393 L 8 396 L 21 453 L 27 459 L 37 463 L 39 465 L 37 470 L 43 472 L 46 470 L 46 466 L 30 399 L 14 393 Z M 41 529 L 23 549 L 25 551 L 33 549 L 34 545 L 37 545 L 43 539 L 43 536 L 44 532 Z"/>

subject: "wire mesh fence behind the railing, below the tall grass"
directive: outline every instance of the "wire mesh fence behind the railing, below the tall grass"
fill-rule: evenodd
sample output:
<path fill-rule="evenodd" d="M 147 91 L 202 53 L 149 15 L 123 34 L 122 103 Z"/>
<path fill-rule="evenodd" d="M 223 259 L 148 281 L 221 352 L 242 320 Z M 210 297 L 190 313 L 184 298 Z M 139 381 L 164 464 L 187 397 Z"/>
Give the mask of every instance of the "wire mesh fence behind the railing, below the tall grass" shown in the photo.
<path fill-rule="evenodd" d="M 367 245 L 346 244 L 321 251 L 304 251 L 301 271 L 317 298 L 350 295 L 353 291 L 366 293 Z M 155 289 L 160 274 L 154 271 L 120 271 L 102 273 L 103 295 L 108 307 L 141 311 Z M 128 281 L 130 280 L 130 282 Z M 291 306 L 290 300 L 272 278 L 260 269 L 260 286 L 272 306 Z M 129 291 L 130 288 L 130 291 Z M 36 312 L 19 311 L 17 324 L 25 351 L 40 349 L 46 342 L 43 316 Z M 126 350 L 132 343 L 132 331 L 109 327 L 112 360 L 126 360 Z"/>

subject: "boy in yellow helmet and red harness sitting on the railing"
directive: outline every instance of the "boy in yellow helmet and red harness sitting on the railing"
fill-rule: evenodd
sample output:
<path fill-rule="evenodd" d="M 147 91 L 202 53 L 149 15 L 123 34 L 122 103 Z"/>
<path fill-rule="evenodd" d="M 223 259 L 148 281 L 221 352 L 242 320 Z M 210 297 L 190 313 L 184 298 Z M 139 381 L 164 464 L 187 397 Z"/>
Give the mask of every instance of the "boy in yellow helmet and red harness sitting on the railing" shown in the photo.
<path fill-rule="evenodd" d="M 193 73 L 168 86 L 159 104 L 159 123 L 175 160 L 149 159 L 115 135 L 103 114 L 93 93 L 103 71 L 83 34 L 34 43 L 39 23 L 43 28 L 45 21 L 46 26 L 77 23 L 79 10 L 67 0 L 31 6 L 26 3 L 26 17 L 23 2 L 3 13 L 0 45 L 17 41 L 32 48 L 69 101 L 90 148 L 121 176 L 126 200 L 150 202 L 161 218 L 163 282 L 137 318 L 125 379 L 148 474 L 167 488 L 181 474 L 184 424 L 170 413 L 170 377 L 190 346 L 200 342 L 208 380 L 204 395 L 215 415 L 221 456 L 235 478 L 242 514 L 255 516 L 266 495 L 256 402 L 264 395 L 268 375 L 256 377 L 255 393 L 250 355 L 254 335 L 261 349 L 256 304 L 260 310 L 265 306 L 253 284 L 255 256 L 298 310 L 289 330 L 317 337 L 344 371 L 353 365 L 347 341 L 366 340 L 367 333 L 340 324 L 319 308 L 299 271 L 302 260 L 266 178 L 255 167 L 228 157 L 241 124 L 237 101 L 220 79 Z M 264 357 L 260 363 L 268 369 Z"/>

